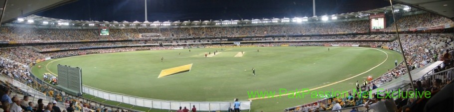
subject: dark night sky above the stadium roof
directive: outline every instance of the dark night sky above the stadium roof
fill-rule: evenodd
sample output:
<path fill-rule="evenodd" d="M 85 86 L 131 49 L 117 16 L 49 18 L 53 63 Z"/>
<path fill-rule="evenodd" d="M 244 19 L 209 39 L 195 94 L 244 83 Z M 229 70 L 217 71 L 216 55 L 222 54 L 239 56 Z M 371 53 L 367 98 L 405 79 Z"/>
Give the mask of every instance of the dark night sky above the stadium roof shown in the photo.
<path fill-rule="evenodd" d="M 144 0 L 78 0 L 36 15 L 97 21 L 145 21 Z M 312 16 L 312 0 L 147 0 L 148 21 Z M 317 16 L 389 6 L 386 0 L 315 0 Z"/>

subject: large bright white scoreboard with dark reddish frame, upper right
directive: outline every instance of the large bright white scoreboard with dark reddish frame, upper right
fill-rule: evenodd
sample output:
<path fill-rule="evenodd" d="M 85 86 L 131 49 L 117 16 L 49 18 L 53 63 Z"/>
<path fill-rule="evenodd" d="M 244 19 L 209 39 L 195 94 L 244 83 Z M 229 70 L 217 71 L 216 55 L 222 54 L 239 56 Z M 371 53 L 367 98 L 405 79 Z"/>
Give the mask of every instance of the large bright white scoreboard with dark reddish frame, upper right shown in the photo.
<path fill-rule="evenodd" d="M 386 18 L 384 13 L 369 15 L 370 31 L 382 31 L 386 28 Z"/>

